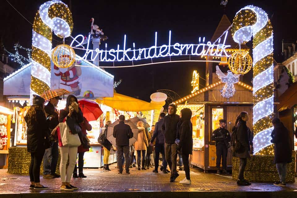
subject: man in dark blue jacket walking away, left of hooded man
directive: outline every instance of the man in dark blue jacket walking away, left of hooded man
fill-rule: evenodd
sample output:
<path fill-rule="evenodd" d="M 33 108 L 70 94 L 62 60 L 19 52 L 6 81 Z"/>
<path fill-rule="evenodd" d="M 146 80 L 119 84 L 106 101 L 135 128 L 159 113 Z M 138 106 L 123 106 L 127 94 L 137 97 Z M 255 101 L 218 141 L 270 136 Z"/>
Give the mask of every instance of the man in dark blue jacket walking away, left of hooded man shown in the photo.
<path fill-rule="evenodd" d="M 150 144 L 153 145 L 154 140 L 156 139 L 156 144 L 155 144 L 155 169 L 153 170 L 154 173 L 158 173 L 158 167 L 159 167 L 159 156 L 160 153 L 162 155 L 163 159 L 163 173 L 167 174 L 166 167 L 167 167 L 167 162 L 165 159 L 165 143 L 164 143 L 164 134 L 162 132 L 162 124 L 163 120 L 165 117 L 165 113 L 160 114 L 160 120 L 156 122 L 155 124 L 155 130 L 153 133 L 153 137 L 150 141 Z"/>

